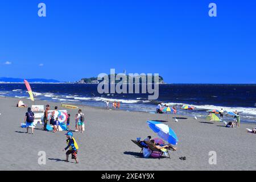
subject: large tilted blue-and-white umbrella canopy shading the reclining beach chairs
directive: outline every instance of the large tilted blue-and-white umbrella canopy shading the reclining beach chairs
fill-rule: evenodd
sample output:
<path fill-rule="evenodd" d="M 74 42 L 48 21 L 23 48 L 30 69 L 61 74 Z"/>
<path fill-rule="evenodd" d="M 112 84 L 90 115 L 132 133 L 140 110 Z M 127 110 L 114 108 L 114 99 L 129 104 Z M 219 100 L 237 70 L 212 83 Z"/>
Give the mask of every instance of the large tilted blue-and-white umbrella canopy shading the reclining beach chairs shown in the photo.
<path fill-rule="evenodd" d="M 147 123 L 151 130 L 157 133 L 160 138 L 166 140 L 168 143 L 176 145 L 177 142 L 179 142 L 177 135 L 169 126 L 156 121 L 147 121 Z"/>

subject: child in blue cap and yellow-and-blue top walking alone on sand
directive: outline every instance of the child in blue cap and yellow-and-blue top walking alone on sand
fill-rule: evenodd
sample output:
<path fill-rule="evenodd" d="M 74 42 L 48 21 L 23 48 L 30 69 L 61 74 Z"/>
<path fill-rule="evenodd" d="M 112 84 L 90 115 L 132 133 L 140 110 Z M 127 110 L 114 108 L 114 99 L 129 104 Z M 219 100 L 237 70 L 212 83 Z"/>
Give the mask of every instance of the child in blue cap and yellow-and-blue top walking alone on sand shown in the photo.
<path fill-rule="evenodd" d="M 66 152 L 66 162 L 69 162 L 68 156 L 71 155 L 72 159 L 75 159 L 76 163 L 78 164 L 79 162 L 77 160 L 77 151 L 79 150 L 79 146 L 77 145 L 76 140 L 73 137 L 73 133 L 71 131 L 69 131 L 65 135 L 67 135 L 66 142 L 67 142 L 68 146 L 63 149 L 63 152 L 69 149 Z"/>

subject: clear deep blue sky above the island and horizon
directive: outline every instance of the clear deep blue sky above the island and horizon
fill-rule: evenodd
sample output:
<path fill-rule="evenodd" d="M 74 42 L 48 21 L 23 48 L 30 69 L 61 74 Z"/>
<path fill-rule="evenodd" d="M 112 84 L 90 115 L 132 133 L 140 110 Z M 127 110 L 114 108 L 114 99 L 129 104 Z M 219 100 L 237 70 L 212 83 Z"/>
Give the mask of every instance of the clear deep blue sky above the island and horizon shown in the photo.
<path fill-rule="evenodd" d="M 115 68 L 169 83 L 256 83 L 255 9 L 226 0 L 0 1 L 0 77 L 75 81 Z"/>

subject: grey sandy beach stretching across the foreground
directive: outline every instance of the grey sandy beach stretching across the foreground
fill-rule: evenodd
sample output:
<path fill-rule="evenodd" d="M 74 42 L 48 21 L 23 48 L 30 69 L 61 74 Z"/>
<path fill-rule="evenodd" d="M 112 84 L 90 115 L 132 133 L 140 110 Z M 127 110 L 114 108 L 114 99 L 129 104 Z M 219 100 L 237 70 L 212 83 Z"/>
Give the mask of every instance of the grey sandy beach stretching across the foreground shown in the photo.
<path fill-rule="evenodd" d="M 86 114 L 85 133 L 74 133 L 79 144 L 79 164 L 64 162 L 65 131 L 52 133 L 36 127 L 35 134 L 26 134 L 20 127 L 26 108 L 15 107 L 18 98 L 0 98 L 0 170 L 255 170 L 255 134 L 246 133 L 254 125 L 242 123 L 239 129 L 227 129 L 221 122 L 207 123 L 205 119 L 169 115 L 168 122 L 179 138 L 177 151 L 170 152 L 171 159 L 144 159 L 140 148 L 131 142 L 137 137 L 157 137 L 148 127 L 148 120 L 166 121 L 166 115 L 122 110 L 106 110 L 81 106 Z M 31 105 L 31 101 L 24 101 Z M 49 104 L 51 109 L 60 103 Z M 77 110 L 71 114 L 71 129 L 75 128 Z M 46 165 L 38 164 L 38 152 L 46 152 Z M 210 165 L 209 152 L 217 152 L 217 164 Z M 187 160 L 180 160 L 186 156 Z"/>

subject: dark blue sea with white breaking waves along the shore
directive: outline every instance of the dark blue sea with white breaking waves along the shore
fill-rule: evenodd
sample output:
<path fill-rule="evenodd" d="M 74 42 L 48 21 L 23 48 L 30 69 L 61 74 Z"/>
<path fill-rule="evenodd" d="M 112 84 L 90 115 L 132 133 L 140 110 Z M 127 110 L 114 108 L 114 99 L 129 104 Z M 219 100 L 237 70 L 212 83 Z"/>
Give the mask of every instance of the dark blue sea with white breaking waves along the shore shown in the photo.
<path fill-rule="evenodd" d="M 209 109 L 237 110 L 242 122 L 256 123 L 256 85 L 166 84 L 159 85 L 158 100 L 148 100 L 147 94 L 99 94 L 94 84 L 31 84 L 35 100 L 105 107 L 105 101 L 121 102 L 126 111 L 154 112 L 159 102 L 177 107 L 178 114 L 205 117 Z M 0 97 L 17 97 L 26 102 L 24 84 L 0 84 Z M 188 104 L 196 110 L 181 110 Z M 224 120 L 233 118 L 225 115 Z"/>

